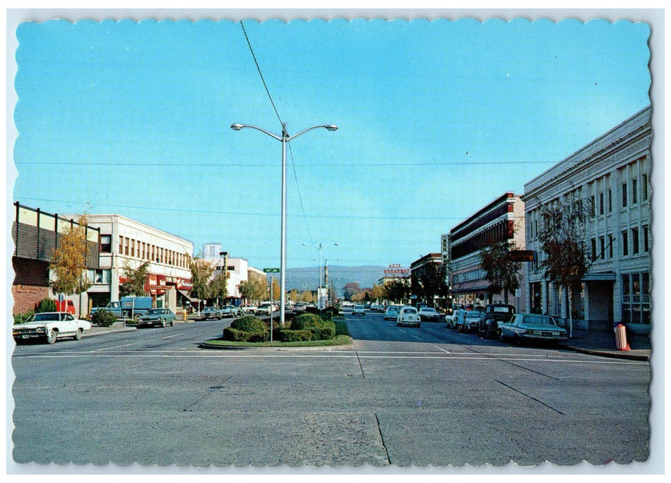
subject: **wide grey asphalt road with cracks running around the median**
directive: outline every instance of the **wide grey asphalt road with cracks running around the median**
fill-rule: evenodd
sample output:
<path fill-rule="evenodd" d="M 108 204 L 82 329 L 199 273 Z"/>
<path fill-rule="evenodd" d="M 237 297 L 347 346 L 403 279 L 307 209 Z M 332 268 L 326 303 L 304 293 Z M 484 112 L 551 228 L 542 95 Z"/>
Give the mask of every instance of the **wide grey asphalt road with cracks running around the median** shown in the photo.
<path fill-rule="evenodd" d="M 346 317 L 347 348 L 199 348 L 230 321 L 17 346 L 12 458 L 445 471 L 648 458 L 647 362 Z"/>

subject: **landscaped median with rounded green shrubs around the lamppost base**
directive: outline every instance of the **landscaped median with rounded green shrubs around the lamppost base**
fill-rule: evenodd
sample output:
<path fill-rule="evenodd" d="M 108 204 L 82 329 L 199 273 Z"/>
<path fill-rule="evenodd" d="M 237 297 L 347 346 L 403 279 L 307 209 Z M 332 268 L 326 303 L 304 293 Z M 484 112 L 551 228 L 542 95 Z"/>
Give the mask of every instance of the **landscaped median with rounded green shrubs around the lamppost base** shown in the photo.
<path fill-rule="evenodd" d="M 334 311 L 305 313 L 286 320 L 284 327 L 273 324 L 270 342 L 270 320 L 246 315 L 223 329 L 219 339 L 201 344 L 203 348 L 243 347 L 319 347 L 344 346 L 352 343 L 345 318 Z"/>

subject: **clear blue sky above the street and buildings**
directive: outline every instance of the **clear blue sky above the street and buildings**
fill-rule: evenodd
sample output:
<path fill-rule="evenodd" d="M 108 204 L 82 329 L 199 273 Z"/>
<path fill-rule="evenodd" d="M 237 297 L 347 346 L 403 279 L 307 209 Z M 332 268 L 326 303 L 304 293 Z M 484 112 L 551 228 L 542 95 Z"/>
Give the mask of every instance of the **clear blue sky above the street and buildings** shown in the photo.
<path fill-rule="evenodd" d="M 289 267 L 409 266 L 645 106 L 619 21 L 244 21 L 288 151 Z M 280 121 L 239 22 L 22 23 L 13 199 L 279 266 Z M 11 182 L 11 180 L 10 180 Z M 303 245 L 305 244 L 305 245 Z M 334 244 L 338 244 L 335 246 Z"/>

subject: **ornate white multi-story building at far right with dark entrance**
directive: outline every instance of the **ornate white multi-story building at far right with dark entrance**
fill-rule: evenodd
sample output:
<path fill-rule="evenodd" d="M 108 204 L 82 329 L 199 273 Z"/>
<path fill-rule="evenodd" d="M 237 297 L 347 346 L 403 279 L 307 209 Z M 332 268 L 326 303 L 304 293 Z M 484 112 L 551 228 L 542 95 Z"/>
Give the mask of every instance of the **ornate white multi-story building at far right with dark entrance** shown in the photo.
<path fill-rule="evenodd" d="M 541 205 L 585 199 L 593 207 L 585 242 L 594 262 L 574 294 L 574 327 L 621 322 L 650 331 L 650 113 L 648 106 L 525 184 L 527 248 L 541 260 Z M 532 308 L 568 317 L 565 291 L 545 279 L 538 260 L 528 284 Z"/>

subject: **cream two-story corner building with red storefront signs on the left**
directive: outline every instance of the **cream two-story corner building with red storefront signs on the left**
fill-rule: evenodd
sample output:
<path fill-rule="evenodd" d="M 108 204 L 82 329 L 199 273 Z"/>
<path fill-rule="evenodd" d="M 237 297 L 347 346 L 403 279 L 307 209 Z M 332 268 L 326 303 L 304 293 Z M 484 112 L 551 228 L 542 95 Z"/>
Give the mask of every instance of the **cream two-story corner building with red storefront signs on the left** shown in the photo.
<path fill-rule="evenodd" d="M 123 268 L 149 262 L 145 290 L 157 306 L 177 310 L 191 290 L 193 243 L 121 215 L 86 215 L 100 229 L 99 268 L 90 270 L 89 308 L 119 300 Z"/>

